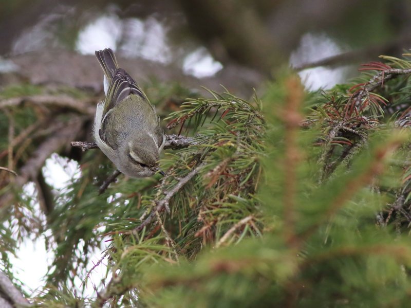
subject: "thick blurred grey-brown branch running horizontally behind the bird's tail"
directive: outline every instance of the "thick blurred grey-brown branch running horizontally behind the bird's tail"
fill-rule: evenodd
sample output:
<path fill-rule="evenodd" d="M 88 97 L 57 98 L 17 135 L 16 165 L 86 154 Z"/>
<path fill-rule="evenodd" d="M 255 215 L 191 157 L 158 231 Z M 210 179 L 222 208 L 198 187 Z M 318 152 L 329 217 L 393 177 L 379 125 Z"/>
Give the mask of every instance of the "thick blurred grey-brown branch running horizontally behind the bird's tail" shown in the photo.
<path fill-rule="evenodd" d="M 8 59 L 17 66 L 24 67 L 19 73 L 25 82 L 28 80 L 31 84 L 58 84 L 103 92 L 102 70 L 94 55 L 47 48 L 21 53 Z M 258 88 L 264 79 L 257 70 L 235 64 L 224 65 L 216 76 L 198 79 L 185 75 L 182 69 L 175 65 L 164 65 L 143 58 L 123 58 L 121 55 L 118 55 L 117 60 L 130 76 L 138 76 L 137 82 L 140 84 L 150 83 L 152 76 L 156 76 L 160 82 L 173 80 L 189 88 L 198 87 L 199 84 L 207 88 L 218 88 L 223 84 L 233 92 L 248 97 L 253 94 L 252 89 Z M 91 105 L 95 107 L 96 101 Z"/>

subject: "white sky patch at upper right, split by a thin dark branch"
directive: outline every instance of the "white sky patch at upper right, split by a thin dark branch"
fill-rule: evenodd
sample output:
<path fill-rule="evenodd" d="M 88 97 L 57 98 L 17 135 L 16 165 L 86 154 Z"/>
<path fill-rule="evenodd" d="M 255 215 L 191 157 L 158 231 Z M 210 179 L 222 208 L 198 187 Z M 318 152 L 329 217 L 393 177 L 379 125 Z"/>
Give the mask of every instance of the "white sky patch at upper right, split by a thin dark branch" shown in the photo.
<path fill-rule="evenodd" d="M 347 51 L 325 34 L 307 33 L 301 38 L 300 46 L 291 53 L 291 66 L 300 66 L 305 63 L 319 61 L 328 57 L 339 55 Z M 330 88 L 337 83 L 345 81 L 348 67 L 327 68 L 314 67 L 304 69 L 298 73 L 305 86 L 311 90 Z"/>

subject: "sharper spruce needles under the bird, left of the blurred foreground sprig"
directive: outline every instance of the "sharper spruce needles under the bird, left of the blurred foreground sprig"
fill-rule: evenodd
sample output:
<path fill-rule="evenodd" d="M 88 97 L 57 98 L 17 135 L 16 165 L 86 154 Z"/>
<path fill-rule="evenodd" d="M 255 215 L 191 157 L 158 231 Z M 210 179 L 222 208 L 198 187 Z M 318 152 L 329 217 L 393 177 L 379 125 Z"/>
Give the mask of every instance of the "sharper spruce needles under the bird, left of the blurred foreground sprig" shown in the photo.
<path fill-rule="evenodd" d="M 85 277 L 89 253 L 99 247 L 101 233 L 112 240 L 109 270 L 120 270 L 122 279 L 115 288 L 121 294 L 133 293 L 130 283 L 141 279 L 147 265 L 194 261 L 203 247 L 261 237 L 264 224 L 255 197 L 265 152 L 260 103 L 250 104 L 230 93 L 213 94 L 212 99 L 189 99 L 184 103 L 186 113 L 171 115 L 180 122 L 181 117 L 189 119 L 197 136 L 189 148 L 164 153 L 160 165 L 165 177 L 120 176 L 98 195 L 97 185 L 107 176 L 109 161 L 100 152 L 88 151 L 81 178 L 58 196 L 50 217 L 49 241 L 57 243 L 60 257 L 51 266 L 49 283 L 63 287 L 67 279 L 72 285 L 77 275 Z M 151 224 L 138 230 L 148 213 L 195 170 L 170 199 L 171 212 L 159 211 Z M 124 296 L 119 305 L 129 300 L 132 297 Z"/>

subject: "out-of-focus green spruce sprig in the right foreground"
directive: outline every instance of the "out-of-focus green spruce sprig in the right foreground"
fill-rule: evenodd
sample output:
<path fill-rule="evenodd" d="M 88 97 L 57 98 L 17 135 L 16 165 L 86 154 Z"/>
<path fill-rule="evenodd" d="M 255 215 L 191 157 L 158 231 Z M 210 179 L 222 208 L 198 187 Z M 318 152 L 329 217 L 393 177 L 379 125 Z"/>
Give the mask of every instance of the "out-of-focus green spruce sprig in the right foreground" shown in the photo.
<path fill-rule="evenodd" d="M 392 181 L 376 176 L 404 156 L 401 151 L 391 155 L 408 135 L 367 131 L 367 147 L 348 169 L 335 168 L 323 183 L 312 158 L 328 149 L 313 149 L 321 125 L 312 131 L 296 125 L 304 94 L 295 77 L 274 84 L 264 101 L 272 108 L 266 113 L 266 180 L 258 194 L 266 222 L 263 238 L 204 250 L 195 262 L 179 267 L 148 267 L 142 279 L 142 289 L 150 290 L 147 306 L 405 305 L 409 239 L 390 227 L 376 228 L 374 217 L 393 200 L 375 183 L 384 187 Z M 398 171 L 391 176 L 401 176 Z"/>

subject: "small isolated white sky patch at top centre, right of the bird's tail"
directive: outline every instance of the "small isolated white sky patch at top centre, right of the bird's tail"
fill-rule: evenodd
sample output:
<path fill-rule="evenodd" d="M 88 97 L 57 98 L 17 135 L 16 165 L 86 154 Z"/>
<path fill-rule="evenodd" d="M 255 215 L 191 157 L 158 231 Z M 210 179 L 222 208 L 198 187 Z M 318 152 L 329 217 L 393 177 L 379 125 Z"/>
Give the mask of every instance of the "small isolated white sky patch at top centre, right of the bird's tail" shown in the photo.
<path fill-rule="evenodd" d="M 213 76 L 220 69 L 222 69 L 222 64 L 215 61 L 204 47 L 190 53 L 183 62 L 184 73 L 197 78 Z"/>

